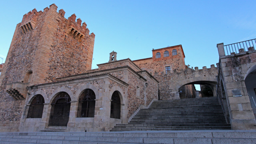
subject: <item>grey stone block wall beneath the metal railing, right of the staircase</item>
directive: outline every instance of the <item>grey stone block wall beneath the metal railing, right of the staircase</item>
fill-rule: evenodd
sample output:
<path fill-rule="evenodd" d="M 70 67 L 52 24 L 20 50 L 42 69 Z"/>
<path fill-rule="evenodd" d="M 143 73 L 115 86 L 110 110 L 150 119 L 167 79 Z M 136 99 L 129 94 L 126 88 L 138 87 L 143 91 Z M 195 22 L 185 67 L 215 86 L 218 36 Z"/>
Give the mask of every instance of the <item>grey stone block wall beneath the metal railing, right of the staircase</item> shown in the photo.
<path fill-rule="evenodd" d="M 223 49 L 223 43 L 217 44 L 219 53 L 221 46 Z M 250 97 L 255 92 L 252 92 L 249 97 L 250 86 L 246 85 L 247 79 L 245 79 L 251 73 L 250 70 L 256 67 L 255 57 L 255 50 L 220 56 L 218 96 L 226 98 L 222 102 L 233 130 L 256 129 L 250 103 Z"/>

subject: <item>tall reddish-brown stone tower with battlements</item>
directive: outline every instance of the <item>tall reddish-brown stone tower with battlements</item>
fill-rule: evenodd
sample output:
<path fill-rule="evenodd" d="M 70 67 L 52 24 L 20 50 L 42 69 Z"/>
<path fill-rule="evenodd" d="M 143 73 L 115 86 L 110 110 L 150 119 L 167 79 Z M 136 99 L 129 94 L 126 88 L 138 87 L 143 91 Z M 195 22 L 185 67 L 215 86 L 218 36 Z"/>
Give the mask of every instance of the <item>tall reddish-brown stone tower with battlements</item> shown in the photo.
<path fill-rule="evenodd" d="M 52 4 L 17 24 L 0 76 L 0 131 L 19 123 L 27 86 L 91 69 L 95 35 L 75 14 L 64 15 Z"/>

